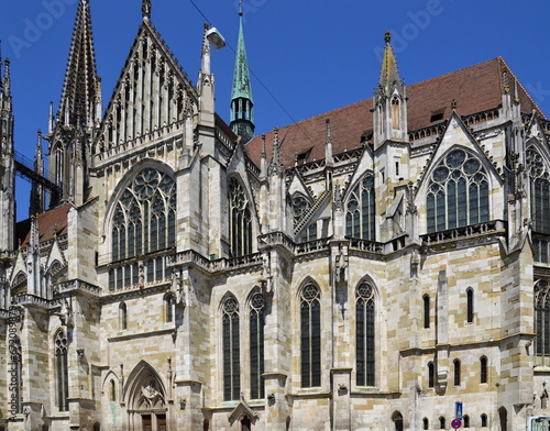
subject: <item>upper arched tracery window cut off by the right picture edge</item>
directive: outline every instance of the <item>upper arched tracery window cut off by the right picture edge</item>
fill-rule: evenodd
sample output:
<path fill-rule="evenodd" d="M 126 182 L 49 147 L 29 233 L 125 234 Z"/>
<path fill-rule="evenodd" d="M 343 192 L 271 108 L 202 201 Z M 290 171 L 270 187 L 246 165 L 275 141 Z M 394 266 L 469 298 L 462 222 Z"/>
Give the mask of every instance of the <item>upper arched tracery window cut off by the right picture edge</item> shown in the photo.
<path fill-rule="evenodd" d="M 534 147 L 526 152 L 526 164 L 531 183 L 532 230 L 550 233 L 550 172 L 540 153 Z"/>

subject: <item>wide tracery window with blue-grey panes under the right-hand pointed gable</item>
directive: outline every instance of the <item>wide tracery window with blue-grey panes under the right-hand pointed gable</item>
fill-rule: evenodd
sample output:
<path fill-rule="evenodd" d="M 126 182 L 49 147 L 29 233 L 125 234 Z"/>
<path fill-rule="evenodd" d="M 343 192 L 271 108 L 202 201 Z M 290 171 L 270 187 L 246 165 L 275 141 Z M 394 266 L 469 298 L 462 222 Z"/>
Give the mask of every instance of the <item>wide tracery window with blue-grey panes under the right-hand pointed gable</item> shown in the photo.
<path fill-rule="evenodd" d="M 450 152 L 433 170 L 427 195 L 428 232 L 488 220 L 488 178 L 477 158 L 463 150 Z"/>

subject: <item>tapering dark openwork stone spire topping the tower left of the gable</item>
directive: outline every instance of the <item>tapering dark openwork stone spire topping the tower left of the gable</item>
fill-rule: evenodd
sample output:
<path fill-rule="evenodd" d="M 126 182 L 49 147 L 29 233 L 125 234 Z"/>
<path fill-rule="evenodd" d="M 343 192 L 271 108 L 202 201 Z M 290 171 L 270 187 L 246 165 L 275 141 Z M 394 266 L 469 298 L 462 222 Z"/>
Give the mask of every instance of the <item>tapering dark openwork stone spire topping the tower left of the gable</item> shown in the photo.
<path fill-rule="evenodd" d="M 80 0 L 59 106 L 58 117 L 66 125 L 91 125 L 98 81 L 90 5 Z"/>

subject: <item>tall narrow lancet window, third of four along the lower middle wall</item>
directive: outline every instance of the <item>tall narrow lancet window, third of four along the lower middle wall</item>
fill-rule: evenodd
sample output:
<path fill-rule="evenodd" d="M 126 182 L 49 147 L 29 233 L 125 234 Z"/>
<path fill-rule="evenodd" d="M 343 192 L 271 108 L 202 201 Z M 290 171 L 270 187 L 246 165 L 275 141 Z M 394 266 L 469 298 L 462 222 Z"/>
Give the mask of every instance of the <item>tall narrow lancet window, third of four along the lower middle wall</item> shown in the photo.
<path fill-rule="evenodd" d="M 321 294 L 308 284 L 300 296 L 301 387 L 309 388 L 321 386 Z"/>

